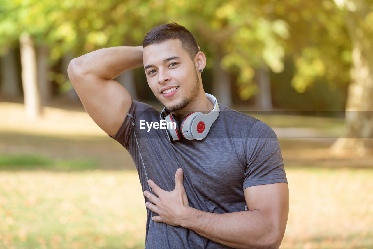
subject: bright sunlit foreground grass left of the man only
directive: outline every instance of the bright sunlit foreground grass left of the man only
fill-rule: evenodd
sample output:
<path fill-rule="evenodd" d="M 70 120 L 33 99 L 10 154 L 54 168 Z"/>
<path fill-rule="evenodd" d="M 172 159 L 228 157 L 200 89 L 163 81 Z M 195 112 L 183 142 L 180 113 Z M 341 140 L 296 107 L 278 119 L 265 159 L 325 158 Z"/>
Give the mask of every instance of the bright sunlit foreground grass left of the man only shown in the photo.
<path fill-rule="evenodd" d="M 136 172 L 0 173 L 0 248 L 144 248 Z"/>

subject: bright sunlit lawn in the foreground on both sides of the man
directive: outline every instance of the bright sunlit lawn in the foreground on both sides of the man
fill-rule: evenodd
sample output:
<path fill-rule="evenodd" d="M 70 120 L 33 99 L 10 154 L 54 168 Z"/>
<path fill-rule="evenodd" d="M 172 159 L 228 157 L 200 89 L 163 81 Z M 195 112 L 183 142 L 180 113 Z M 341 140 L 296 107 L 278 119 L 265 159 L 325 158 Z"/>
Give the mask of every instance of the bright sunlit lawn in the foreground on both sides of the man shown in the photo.
<path fill-rule="evenodd" d="M 372 248 L 373 170 L 286 169 L 281 248 Z M 0 173 L 0 248 L 144 248 L 137 173 Z"/>

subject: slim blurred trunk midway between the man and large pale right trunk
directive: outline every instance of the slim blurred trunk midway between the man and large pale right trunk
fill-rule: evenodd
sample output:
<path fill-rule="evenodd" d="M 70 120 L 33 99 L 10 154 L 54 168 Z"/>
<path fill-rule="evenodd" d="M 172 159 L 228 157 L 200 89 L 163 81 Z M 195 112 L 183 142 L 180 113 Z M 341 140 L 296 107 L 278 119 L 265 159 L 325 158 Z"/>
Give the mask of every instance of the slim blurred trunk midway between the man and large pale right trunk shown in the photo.
<path fill-rule="evenodd" d="M 266 66 L 255 71 L 255 81 L 259 89 L 255 98 L 256 107 L 264 111 L 272 110 L 271 82 Z"/>

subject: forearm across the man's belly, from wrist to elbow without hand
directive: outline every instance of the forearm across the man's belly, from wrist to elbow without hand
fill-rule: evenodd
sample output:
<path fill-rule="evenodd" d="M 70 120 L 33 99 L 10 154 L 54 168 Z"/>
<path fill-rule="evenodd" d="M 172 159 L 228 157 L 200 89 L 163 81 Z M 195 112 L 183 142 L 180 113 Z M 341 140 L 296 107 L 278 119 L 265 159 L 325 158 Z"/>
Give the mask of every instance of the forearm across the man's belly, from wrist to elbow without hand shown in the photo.
<path fill-rule="evenodd" d="M 207 239 L 233 248 L 278 248 L 283 234 L 258 210 L 209 213 L 188 207 L 181 221 Z"/>

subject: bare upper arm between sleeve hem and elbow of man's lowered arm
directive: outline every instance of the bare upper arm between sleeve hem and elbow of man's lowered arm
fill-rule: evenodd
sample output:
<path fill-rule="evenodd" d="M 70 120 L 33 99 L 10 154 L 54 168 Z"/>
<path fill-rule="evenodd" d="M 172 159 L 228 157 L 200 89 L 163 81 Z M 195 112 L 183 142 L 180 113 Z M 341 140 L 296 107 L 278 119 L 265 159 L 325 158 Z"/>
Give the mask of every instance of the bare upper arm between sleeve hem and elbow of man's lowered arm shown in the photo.
<path fill-rule="evenodd" d="M 258 210 L 268 225 L 285 232 L 289 214 L 289 188 L 285 182 L 256 185 L 245 188 L 248 210 Z"/>

